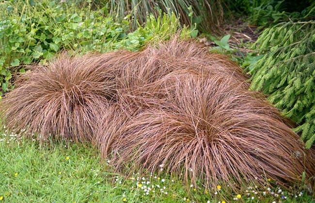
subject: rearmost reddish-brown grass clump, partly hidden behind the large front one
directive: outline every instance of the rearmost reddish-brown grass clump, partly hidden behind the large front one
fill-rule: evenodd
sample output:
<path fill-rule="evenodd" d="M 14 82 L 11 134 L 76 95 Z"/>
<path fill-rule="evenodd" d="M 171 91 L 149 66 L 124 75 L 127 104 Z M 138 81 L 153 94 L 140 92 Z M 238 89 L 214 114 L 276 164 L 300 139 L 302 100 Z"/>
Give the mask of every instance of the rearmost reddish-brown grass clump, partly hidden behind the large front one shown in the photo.
<path fill-rule="evenodd" d="M 206 47 L 196 44 L 193 41 L 181 41 L 178 38 L 157 46 L 150 46 L 137 55 L 134 54 L 118 77 L 118 99 L 125 107 L 139 108 L 142 98 L 151 97 L 158 92 L 163 99 L 163 92 L 155 89 L 152 85 L 165 75 L 173 71 L 187 70 L 202 71 L 204 77 L 213 74 L 220 74 L 224 77 L 233 77 L 243 88 L 248 89 L 249 84 L 245 83 L 248 76 L 242 73 L 242 69 L 236 63 L 228 60 L 221 54 L 209 54 Z M 143 88 L 148 87 L 147 91 Z M 142 88 L 142 91 L 139 91 Z M 128 97 L 127 100 L 123 98 Z M 145 101 L 147 102 L 147 101 Z"/>

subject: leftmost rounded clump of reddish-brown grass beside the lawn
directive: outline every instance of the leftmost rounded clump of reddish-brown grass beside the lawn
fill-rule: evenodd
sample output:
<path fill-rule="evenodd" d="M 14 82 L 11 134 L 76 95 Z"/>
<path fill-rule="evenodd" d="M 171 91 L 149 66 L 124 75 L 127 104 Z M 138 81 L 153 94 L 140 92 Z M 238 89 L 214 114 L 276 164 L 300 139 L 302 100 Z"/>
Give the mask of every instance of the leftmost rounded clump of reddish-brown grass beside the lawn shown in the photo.
<path fill-rule="evenodd" d="M 116 71 L 100 55 L 63 54 L 47 66 L 33 66 L 1 102 L 8 127 L 40 139 L 91 141 L 96 117 L 116 94 Z M 102 108 L 101 108 L 102 107 Z"/>

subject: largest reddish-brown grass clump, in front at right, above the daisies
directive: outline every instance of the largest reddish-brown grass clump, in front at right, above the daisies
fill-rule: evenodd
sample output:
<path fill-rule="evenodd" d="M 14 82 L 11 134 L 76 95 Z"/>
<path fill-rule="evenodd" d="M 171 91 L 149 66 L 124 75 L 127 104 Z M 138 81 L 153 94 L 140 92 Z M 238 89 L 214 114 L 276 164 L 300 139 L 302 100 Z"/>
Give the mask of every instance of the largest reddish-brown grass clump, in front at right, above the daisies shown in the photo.
<path fill-rule="evenodd" d="M 207 187 L 255 179 L 263 184 L 265 173 L 288 186 L 300 182 L 304 170 L 308 178 L 314 174 L 314 160 L 298 135 L 260 94 L 233 78 L 186 72 L 170 80 L 173 73 L 160 85 L 166 102 L 138 112 L 115 132 L 104 158 L 112 152 L 117 169 L 132 162 L 155 171 L 166 164 L 171 172 L 183 169 L 186 181 L 204 180 Z"/>

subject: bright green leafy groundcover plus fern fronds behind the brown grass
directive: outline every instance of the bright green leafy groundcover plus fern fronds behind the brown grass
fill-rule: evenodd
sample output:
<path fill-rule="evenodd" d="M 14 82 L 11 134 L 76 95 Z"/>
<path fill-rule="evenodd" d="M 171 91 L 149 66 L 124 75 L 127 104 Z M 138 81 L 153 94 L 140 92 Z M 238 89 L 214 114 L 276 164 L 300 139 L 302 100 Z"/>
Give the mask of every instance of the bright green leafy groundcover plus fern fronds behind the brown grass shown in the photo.
<path fill-rule="evenodd" d="M 28 1 L 27 1 L 28 2 Z M 147 17 L 144 27 L 128 33 L 129 22 L 106 16 L 106 7 L 93 10 L 76 1 L 6 1 L 0 4 L 0 84 L 13 87 L 12 75 L 30 63 L 46 64 L 59 51 L 84 53 L 117 49 L 139 50 L 145 42 L 168 39 L 179 28 L 175 15 Z M 183 37 L 190 36 L 184 28 Z"/>

